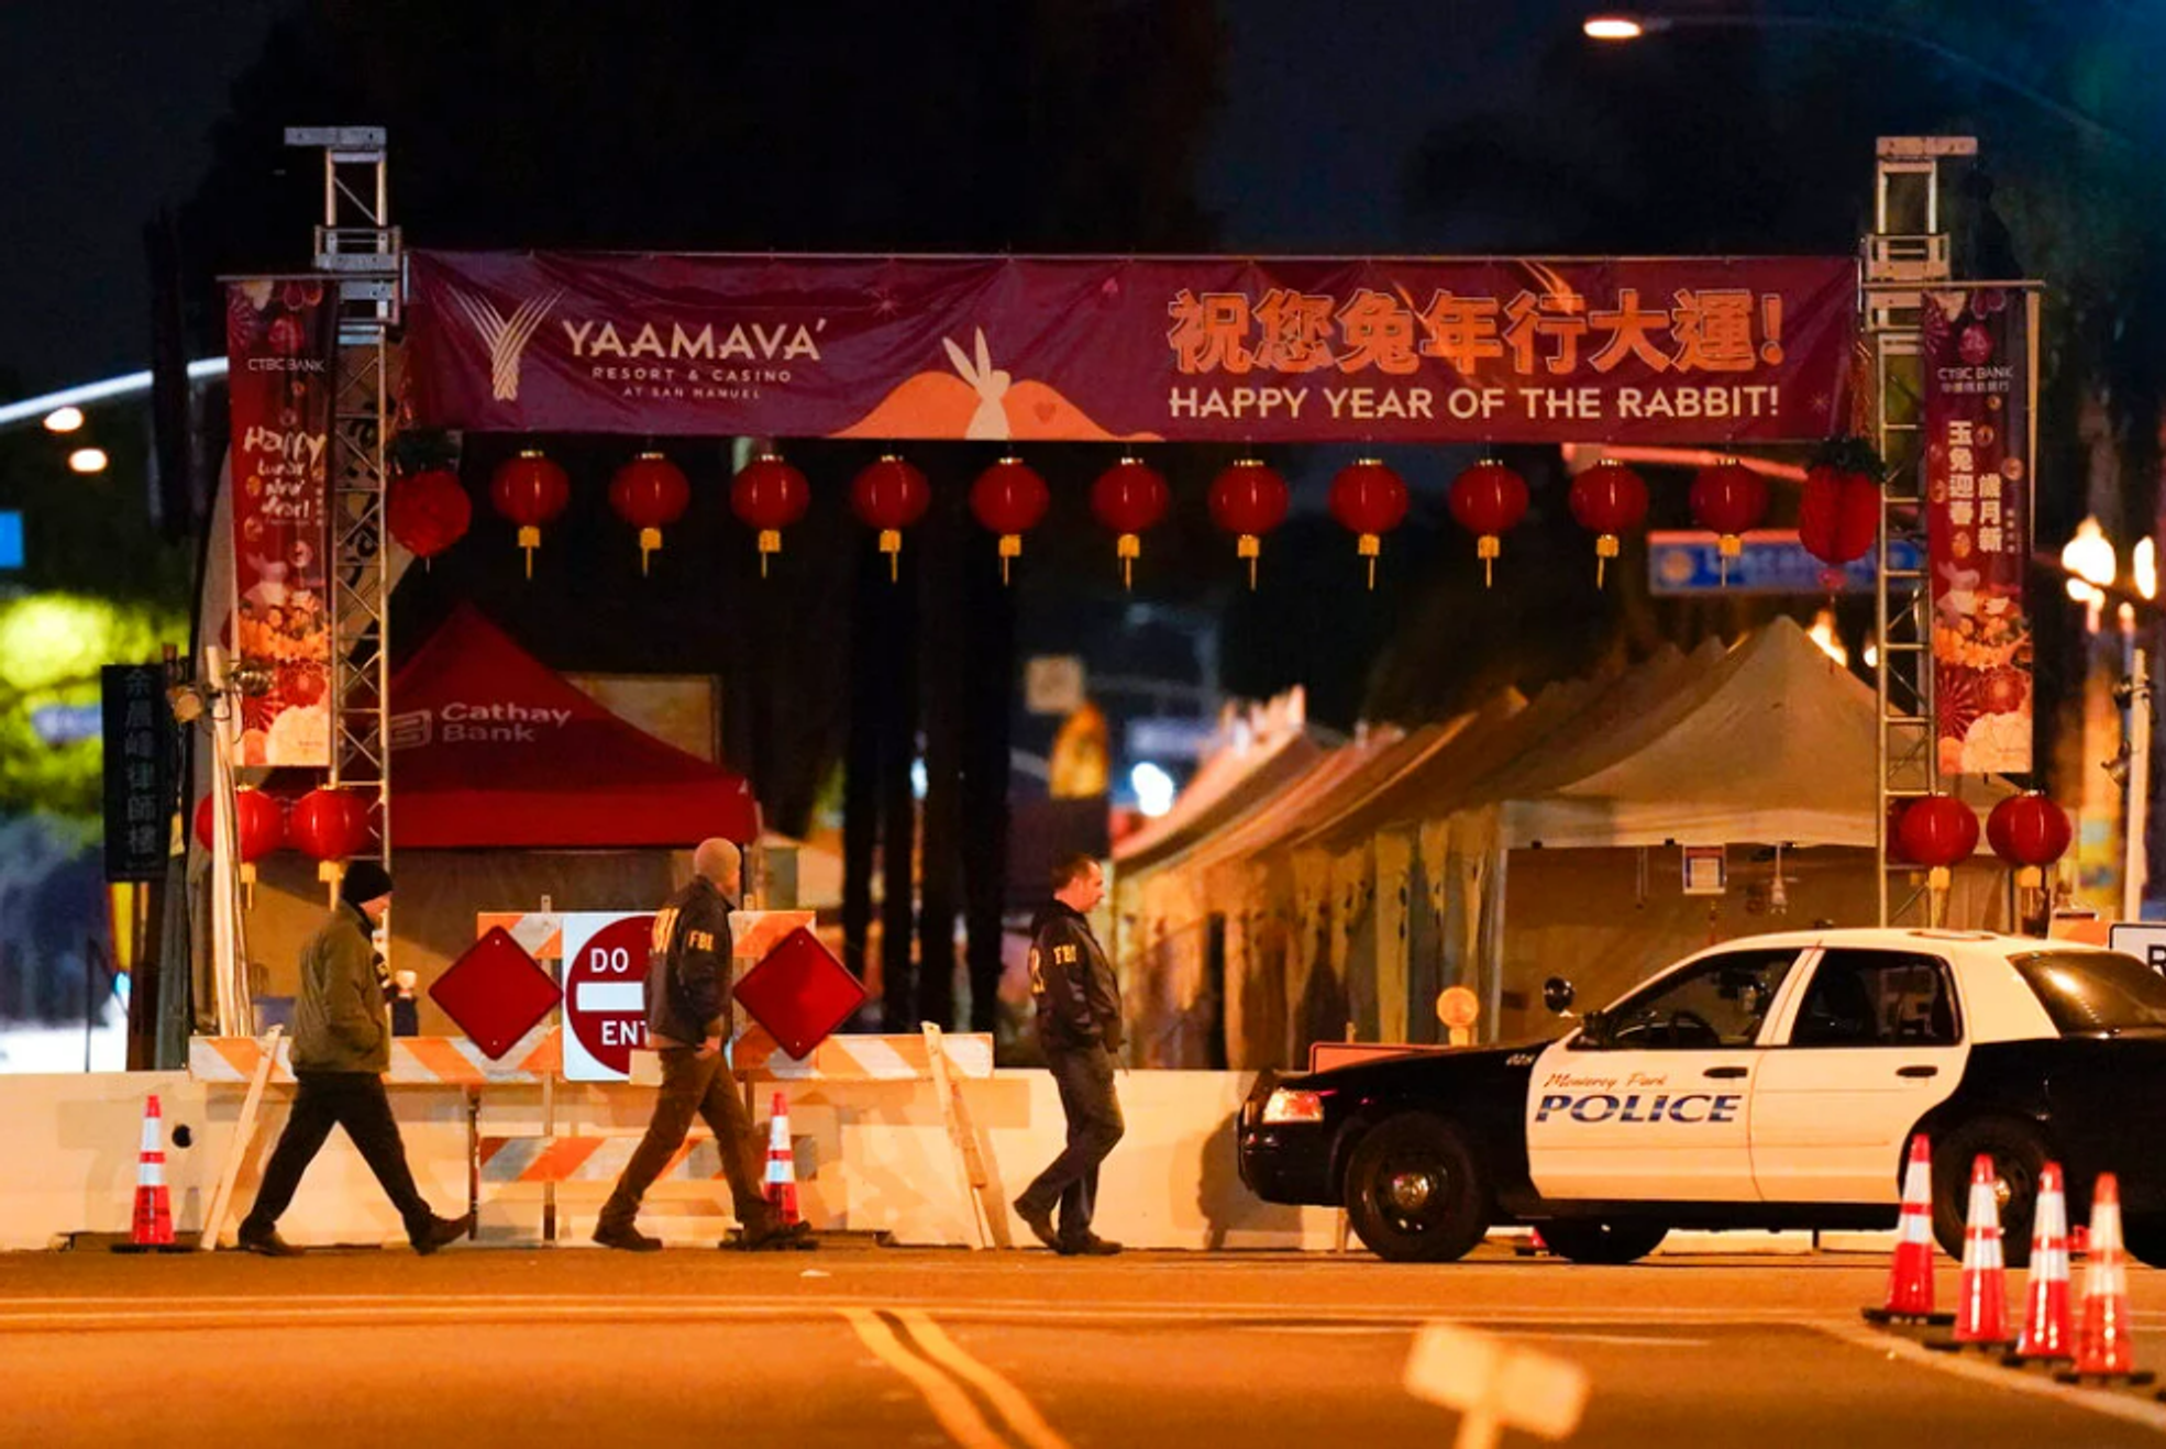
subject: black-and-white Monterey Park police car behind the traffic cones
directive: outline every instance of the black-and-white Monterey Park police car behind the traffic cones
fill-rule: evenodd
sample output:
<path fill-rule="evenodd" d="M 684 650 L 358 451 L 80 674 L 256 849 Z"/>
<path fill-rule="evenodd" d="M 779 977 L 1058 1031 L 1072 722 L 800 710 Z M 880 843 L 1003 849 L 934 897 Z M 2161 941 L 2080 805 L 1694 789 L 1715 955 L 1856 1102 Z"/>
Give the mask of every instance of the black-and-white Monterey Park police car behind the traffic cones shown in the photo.
<path fill-rule="evenodd" d="M 1573 988 L 1544 998 L 1568 1014 Z M 1382 1258 L 1443 1263 L 1536 1224 L 1566 1258 L 1631 1263 L 1685 1226 L 1893 1228 L 1913 1133 L 1949 1254 L 1984 1152 L 2010 1263 L 2060 1161 L 2071 1222 L 2112 1170 L 2129 1250 L 2166 1267 L 2166 977 L 2058 940 L 1752 936 L 1555 1042 L 1267 1074 L 1239 1144 L 1256 1196 L 1345 1206 Z"/>

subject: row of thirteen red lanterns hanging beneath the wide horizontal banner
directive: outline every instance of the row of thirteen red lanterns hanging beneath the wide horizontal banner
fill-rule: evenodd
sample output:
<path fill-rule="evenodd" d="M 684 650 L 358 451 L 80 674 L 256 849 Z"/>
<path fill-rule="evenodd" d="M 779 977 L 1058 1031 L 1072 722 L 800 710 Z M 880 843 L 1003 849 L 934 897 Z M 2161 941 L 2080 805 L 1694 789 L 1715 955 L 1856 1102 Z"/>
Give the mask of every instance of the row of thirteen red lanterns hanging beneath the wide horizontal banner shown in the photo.
<path fill-rule="evenodd" d="M 1806 474 L 1798 537 L 1830 565 L 1830 578 L 1832 570 L 1863 557 L 1878 537 L 1878 472 L 1871 448 L 1845 438 L 1822 448 Z M 858 472 L 849 496 L 858 518 L 879 533 L 888 576 L 897 578 L 903 531 L 925 518 L 931 485 L 916 466 L 890 453 Z M 531 578 L 542 528 L 572 498 L 570 479 L 563 468 L 529 448 L 496 468 L 490 498 L 498 513 L 518 524 Z M 1115 535 L 1122 587 L 1133 585 L 1144 533 L 1165 518 L 1170 498 L 1163 474 L 1137 457 L 1122 457 L 1092 483 L 1092 511 Z M 645 574 L 654 550 L 663 546 L 663 528 L 691 507 L 691 483 L 682 468 L 650 451 L 615 472 L 609 500 L 639 528 L 639 572 Z M 1525 520 L 1529 500 L 1527 479 L 1497 459 L 1482 459 L 1451 481 L 1445 502 L 1453 520 L 1475 535 L 1484 587 L 1495 583 L 1503 535 Z M 799 522 L 810 502 L 806 474 L 773 453 L 760 453 L 730 481 L 730 511 L 758 533 L 762 576 L 769 554 L 782 550 L 782 531 Z M 1728 561 L 1744 552 L 1741 535 L 1767 513 L 1767 481 L 1752 468 L 1724 459 L 1694 474 L 1689 502 L 1694 520 L 1720 537 L 1722 580 L 1728 583 Z M 999 459 L 973 483 L 970 511 L 1001 539 L 1003 583 L 1009 578 L 1009 563 L 1022 554 L 1022 535 L 1044 520 L 1048 505 L 1046 481 L 1018 457 Z M 1568 505 L 1573 518 L 1594 533 L 1594 583 L 1601 587 L 1609 559 L 1622 548 L 1622 535 L 1646 522 L 1646 481 L 1616 459 L 1601 459 L 1573 479 Z M 1211 520 L 1235 535 L 1235 554 L 1248 561 L 1254 589 L 1263 535 L 1287 520 L 1287 481 L 1261 459 L 1239 459 L 1211 481 L 1209 507 Z M 1332 479 L 1330 511 L 1354 533 L 1358 557 L 1369 561 L 1373 589 L 1384 535 L 1406 520 L 1406 481 L 1380 459 L 1358 459 Z M 392 481 L 386 522 L 409 552 L 433 559 L 466 535 L 472 505 L 457 474 L 429 468 Z"/>

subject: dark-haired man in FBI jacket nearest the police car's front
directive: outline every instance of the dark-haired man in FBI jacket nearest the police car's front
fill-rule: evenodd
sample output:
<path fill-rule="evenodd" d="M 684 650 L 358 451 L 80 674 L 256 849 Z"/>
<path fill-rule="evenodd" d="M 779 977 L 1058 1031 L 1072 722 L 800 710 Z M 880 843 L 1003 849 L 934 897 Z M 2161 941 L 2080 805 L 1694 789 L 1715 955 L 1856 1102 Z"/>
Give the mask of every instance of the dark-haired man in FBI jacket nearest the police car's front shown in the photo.
<path fill-rule="evenodd" d="M 1120 1243 L 1089 1230 L 1098 1204 L 1098 1163 L 1120 1141 L 1113 1053 L 1120 1050 L 1120 988 L 1092 936 L 1089 912 L 1105 899 L 1105 871 L 1070 856 L 1053 871 L 1053 903 L 1031 923 L 1031 1001 L 1038 1044 L 1061 1092 L 1068 1148 L 1016 1198 L 1016 1215 L 1061 1256 L 1109 1256 Z M 1061 1222 L 1053 1226 L 1053 1206 Z"/>

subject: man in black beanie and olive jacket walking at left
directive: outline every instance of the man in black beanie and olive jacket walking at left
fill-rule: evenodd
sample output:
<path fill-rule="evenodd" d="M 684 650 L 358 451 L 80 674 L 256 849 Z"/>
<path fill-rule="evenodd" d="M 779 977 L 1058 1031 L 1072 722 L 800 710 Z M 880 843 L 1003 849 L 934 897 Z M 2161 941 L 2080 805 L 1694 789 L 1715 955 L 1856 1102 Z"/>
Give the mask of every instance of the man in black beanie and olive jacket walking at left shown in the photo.
<path fill-rule="evenodd" d="M 414 1252 L 431 1254 L 474 1226 L 474 1215 L 438 1217 L 414 1187 L 399 1141 L 383 1072 L 392 1066 L 392 1033 L 383 1020 L 383 977 L 370 931 L 392 903 L 392 875 L 375 860 L 355 860 L 338 888 L 331 916 L 301 947 L 301 996 L 292 1011 L 292 1079 L 299 1089 L 256 1206 L 240 1224 L 240 1248 L 266 1258 L 295 1258 L 299 1248 L 277 1235 L 301 1174 L 334 1126 L 390 1193 Z"/>

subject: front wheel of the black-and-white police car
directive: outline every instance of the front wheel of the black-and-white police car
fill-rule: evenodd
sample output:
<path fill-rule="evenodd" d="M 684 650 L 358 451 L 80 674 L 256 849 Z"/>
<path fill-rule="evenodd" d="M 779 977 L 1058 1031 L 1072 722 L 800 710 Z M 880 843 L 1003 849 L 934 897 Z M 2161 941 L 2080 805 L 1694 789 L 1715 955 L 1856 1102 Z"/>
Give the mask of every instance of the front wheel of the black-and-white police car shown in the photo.
<path fill-rule="evenodd" d="M 1421 1111 L 1384 1118 L 1354 1148 L 1347 1217 L 1391 1263 L 1451 1263 L 1488 1232 L 1488 1178 L 1464 1133 Z"/>

